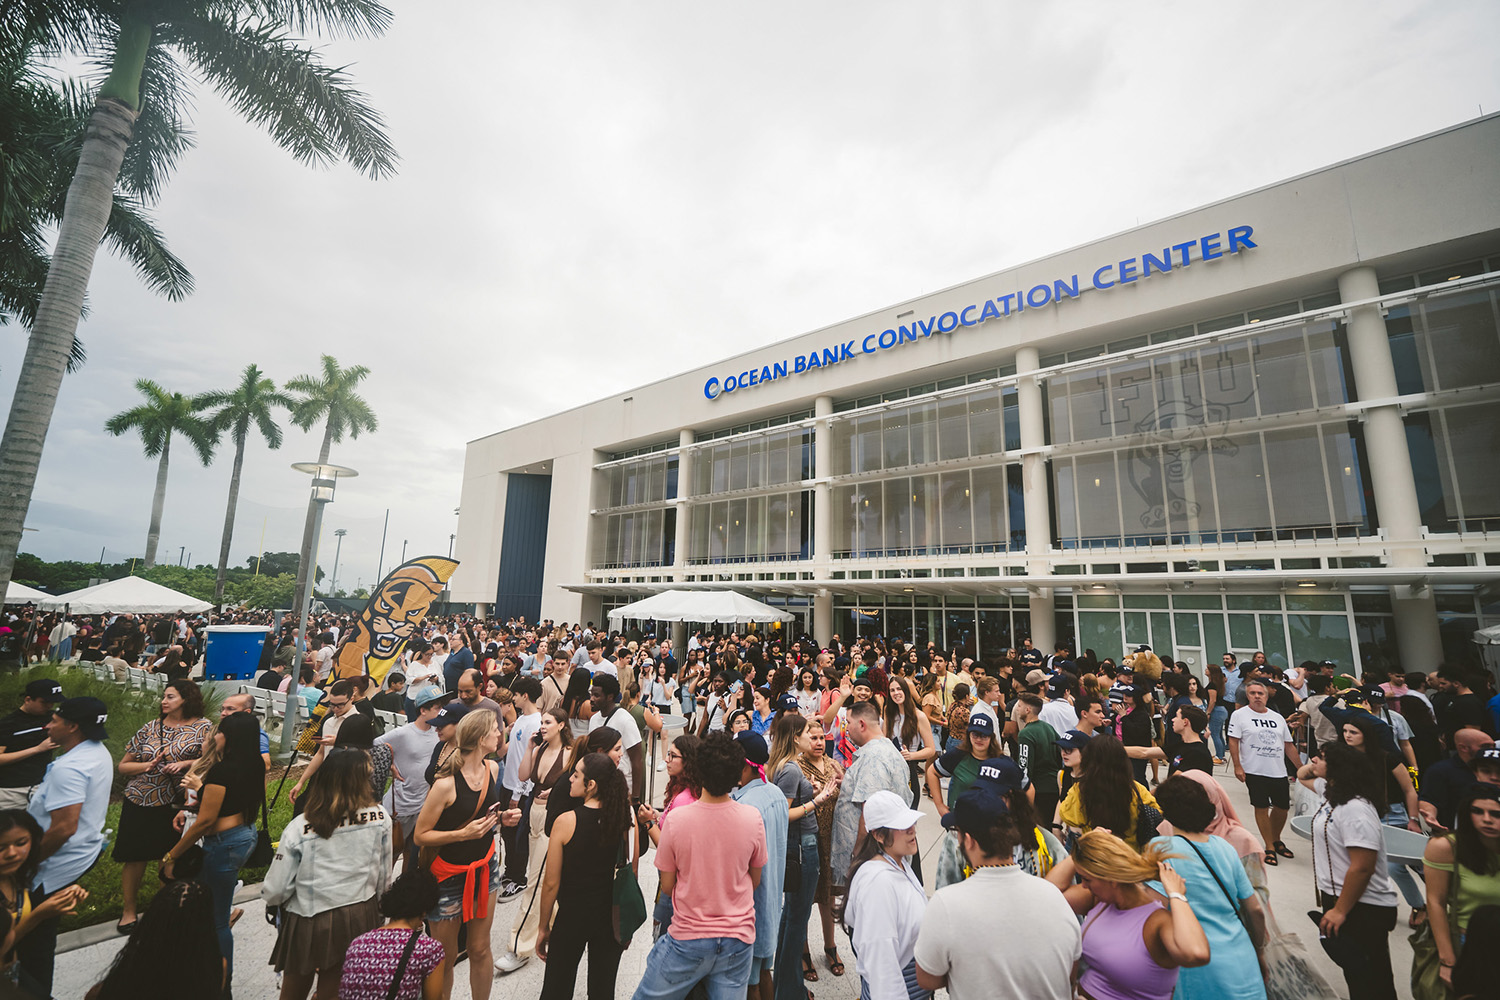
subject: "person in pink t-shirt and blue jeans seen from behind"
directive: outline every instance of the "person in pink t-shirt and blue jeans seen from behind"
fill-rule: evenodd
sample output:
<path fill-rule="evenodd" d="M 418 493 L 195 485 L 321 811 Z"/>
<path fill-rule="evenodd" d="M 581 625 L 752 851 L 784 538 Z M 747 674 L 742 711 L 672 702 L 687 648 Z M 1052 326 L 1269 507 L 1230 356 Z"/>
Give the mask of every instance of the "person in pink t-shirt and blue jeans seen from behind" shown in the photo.
<path fill-rule="evenodd" d="M 672 925 L 651 948 L 634 1000 L 681 1000 L 699 982 L 711 1000 L 746 996 L 754 888 L 766 846 L 760 813 L 729 798 L 744 763 L 744 751 L 726 733 L 710 733 L 699 744 L 702 796 L 672 810 L 657 844 Z"/>

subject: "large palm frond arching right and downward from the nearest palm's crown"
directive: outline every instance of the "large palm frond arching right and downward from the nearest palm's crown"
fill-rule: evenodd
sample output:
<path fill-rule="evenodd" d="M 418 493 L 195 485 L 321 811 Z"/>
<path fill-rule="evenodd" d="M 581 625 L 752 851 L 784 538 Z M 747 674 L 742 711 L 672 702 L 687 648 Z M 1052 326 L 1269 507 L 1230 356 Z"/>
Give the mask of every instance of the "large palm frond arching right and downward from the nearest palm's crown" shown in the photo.
<path fill-rule="evenodd" d="M 280 28 L 208 15 L 165 24 L 159 34 L 294 159 L 344 159 L 372 178 L 394 172 L 398 156 L 380 112 L 342 67 L 324 66 Z"/>

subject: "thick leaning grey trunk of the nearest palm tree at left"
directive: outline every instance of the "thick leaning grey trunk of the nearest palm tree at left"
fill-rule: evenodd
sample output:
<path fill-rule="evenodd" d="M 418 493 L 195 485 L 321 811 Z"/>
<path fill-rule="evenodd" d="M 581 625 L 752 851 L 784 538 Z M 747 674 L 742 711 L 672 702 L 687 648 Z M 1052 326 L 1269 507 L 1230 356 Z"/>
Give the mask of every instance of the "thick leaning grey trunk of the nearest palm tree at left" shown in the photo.
<path fill-rule="evenodd" d="M 116 69 L 111 72 L 111 81 L 117 75 L 124 81 L 134 66 L 136 90 L 152 40 L 150 25 L 144 25 L 144 36 L 141 27 L 122 30 Z M 114 207 L 114 181 L 120 175 L 124 148 L 135 127 L 138 102 L 126 103 L 122 96 L 129 96 L 128 85 L 122 84 L 117 93 L 105 87 L 88 115 L 78 171 L 68 186 L 57 246 L 26 345 L 4 438 L 0 439 L 0 592 L 10 583 L 15 553 L 21 546 L 21 526 L 32 505 L 32 490 L 42 465 L 42 445 L 57 408 L 57 391 L 68 369 L 94 253 L 99 252 L 99 240 Z"/>

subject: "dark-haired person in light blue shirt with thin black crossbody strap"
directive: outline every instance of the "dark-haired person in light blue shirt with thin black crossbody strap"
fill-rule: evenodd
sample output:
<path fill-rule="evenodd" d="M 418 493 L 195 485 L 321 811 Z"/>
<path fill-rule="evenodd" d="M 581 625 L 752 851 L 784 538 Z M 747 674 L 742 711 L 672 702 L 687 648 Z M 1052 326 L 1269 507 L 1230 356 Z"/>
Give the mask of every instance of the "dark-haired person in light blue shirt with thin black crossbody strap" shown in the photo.
<path fill-rule="evenodd" d="M 1260 948 L 1266 912 L 1234 847 L 1208 834 L 1216 814 L 1214 801 L 1192 778 L 1173 775 L 1156 786 L 1156 805 L 1172 823 L 1172 837 L 1156 843 L 1172 852 L 1172 867 L 1188 885 L 1192 913 L 1214 955 L 1206 966 L 1178 972 L 1173 1000 L 1264 1000 Z M 1161 891 L 1160 883 L 1152 888 Z"/>

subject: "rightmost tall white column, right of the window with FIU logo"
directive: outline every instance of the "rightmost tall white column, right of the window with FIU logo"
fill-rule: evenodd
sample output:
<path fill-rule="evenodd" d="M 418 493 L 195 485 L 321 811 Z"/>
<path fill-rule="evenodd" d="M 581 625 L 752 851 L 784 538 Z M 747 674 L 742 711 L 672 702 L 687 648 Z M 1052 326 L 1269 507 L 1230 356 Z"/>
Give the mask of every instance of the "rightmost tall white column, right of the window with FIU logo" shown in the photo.
<path fill-rule="evenodd" d="M 1374 298 L 1380 282 L 1374 268 L 1356 267 L 1338 276 L 1344 301 Z M 1396 397 L 1396 369 L 1390 358 L 1386 319 L 1377 306 L 1359 306 L 1348 315 L 1348 361 L 1354 370 L 1354 391 L 1362 400 Z M 1392 567 L 1425 567 L 1422 508 L 1416 498 L 1412 453 L 1407 450 L 1406 424 L 1394 402 L 1368 406 L 1360 412 L 1365 429 L 1365 460 L 1376 493 L 1376 513 L 1386 537 Z M 1443 660 L 1443 637 L 1437 628 L 1437 603 L 1431 588 L 1414 597 L 1407 586 L 1390 588 L 1395 610 L 1396 646 L 1401 667 L 1431 670 Z"/>

